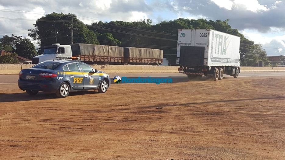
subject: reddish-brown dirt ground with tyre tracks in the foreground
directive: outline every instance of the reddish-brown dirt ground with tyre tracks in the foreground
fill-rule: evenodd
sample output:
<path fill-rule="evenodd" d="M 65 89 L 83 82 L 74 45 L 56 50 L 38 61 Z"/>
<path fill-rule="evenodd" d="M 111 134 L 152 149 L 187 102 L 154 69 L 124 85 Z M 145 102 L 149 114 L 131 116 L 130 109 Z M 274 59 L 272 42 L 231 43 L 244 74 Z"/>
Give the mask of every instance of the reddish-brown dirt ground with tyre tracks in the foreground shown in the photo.
<path fill-rule="evenodd" d="M 0 88 L 0 159 L 284 160 L 285 77 L 112 84 L 64 99 Z"/>

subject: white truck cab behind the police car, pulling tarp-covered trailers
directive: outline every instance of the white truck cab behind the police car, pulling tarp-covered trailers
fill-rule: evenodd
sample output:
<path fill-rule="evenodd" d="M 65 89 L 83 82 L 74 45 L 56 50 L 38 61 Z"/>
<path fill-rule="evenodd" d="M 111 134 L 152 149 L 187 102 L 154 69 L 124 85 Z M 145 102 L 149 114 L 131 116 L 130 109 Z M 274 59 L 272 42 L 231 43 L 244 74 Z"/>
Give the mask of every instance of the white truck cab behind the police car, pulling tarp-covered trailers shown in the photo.
<path fill-rule="evenodd" d="M 33 57 L 32 64 L 38 64 L 40 62 L 52 59 L 71 60 L 72 52 L 70 45 L 60 45 L 54 43 L 51 46 L 45 46 L 43 54 Z"/>

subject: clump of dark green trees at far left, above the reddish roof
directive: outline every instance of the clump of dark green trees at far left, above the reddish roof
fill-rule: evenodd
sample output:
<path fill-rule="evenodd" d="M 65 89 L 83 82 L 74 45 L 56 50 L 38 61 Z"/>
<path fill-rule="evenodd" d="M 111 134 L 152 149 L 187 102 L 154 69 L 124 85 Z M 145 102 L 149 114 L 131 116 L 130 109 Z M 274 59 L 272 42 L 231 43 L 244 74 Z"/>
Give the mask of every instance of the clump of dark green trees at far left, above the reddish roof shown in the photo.
<path fill-rule="evenodd" d="M 5 35 L 0 39 L 1 49 L 7 52 L 15 52 L 17 55 L 32 59 L 37 55 L 36 48 L 30 39 L 22 38 L 22 36 Z"/>

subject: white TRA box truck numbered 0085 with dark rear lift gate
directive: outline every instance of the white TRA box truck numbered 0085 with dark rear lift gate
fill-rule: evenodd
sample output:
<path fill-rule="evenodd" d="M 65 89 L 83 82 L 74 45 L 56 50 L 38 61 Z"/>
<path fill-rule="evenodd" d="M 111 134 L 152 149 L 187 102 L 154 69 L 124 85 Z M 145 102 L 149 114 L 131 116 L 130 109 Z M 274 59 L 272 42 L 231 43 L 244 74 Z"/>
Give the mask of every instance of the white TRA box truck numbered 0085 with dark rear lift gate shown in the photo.
<path fill-rule="evenodd" d="M 179 73 L 189 79 L 211 77 L 223 79 L 223 75 L 237 78 L 240 74 L 240 37 L 211 29 L 178 29 L 176 64 Z"/>

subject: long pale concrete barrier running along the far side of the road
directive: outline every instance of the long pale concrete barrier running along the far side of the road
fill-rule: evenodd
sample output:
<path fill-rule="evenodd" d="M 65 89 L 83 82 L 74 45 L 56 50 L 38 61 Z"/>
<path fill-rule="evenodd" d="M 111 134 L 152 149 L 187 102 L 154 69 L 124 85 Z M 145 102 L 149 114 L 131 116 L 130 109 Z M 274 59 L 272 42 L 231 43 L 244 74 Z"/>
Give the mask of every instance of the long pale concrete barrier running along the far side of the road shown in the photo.
<path fill-rule="evenodd" d="M 0 64 L 0 75 L 19 74 L 21 69 L 34 64 Z M 178 73 L 179 66 L 147 66 L 147 65 L 90 65 L 106 73 Z M 241 72 L 285 71 L 285 67 L 240 67 Z"/>

